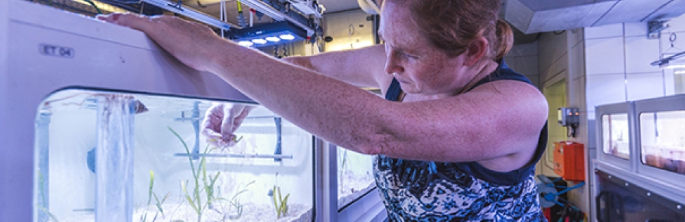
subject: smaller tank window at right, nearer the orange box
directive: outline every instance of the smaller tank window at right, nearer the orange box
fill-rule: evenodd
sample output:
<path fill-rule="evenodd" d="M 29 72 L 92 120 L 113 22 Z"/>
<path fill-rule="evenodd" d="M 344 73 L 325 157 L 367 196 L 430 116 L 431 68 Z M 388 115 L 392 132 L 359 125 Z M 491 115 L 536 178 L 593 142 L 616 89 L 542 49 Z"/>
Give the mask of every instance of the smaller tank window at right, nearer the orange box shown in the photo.
<path fill-rule="evenodd" d="M 628 114 L 616 113 L 601 116 L 603 152 L 619 158 L 630 158 Z"/>

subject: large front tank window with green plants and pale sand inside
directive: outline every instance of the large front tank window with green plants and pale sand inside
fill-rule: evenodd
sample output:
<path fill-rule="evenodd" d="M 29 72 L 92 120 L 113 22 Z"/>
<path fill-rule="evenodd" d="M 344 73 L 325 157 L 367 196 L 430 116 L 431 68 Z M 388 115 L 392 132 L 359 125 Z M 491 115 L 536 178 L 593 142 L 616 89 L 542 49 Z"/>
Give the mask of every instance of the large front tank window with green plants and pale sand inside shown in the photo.
<path fill-rule="evenodd" d="M 213 102 L 84 89 L 51 94 L 36 119 L 34 218 L 312 221 L 312 135 L 256 107 L 233 147 L 214 147 L 200 132 Z"/>

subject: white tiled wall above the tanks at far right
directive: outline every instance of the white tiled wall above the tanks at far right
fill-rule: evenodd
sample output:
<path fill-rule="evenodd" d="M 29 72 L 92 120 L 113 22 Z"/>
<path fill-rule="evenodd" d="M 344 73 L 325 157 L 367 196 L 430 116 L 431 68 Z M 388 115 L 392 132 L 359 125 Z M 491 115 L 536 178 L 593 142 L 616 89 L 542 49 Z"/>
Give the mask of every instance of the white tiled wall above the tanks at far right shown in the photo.
<path fill-rule="evenodd" d="M 674 18 L 661 38 L 647 38 L 646 23 L 622 23 L 586 28 L 588 111 L 616 102 L 669 96 L 675 92 L 673 70 L 651 66 L 662 55 L 685 51 L 685 16 Z M 594 119 L 594 115 L 591 117 Z"/>

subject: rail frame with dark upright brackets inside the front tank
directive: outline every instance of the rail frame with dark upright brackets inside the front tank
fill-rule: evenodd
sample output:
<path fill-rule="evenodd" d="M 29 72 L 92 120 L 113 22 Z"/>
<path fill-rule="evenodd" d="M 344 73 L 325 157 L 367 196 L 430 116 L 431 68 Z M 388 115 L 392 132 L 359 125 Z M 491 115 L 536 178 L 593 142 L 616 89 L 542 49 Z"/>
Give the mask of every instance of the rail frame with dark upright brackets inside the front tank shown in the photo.
<path fill-rule="evenodd" d="M 185 112 L 181 113 L 180 118 L 175 118 L 174 121 L 178 122 L 184 122 L 184 121 L 190 121 L 192 123 L 192 128 L 195 130 L 195 144 L 192 146 L 192 152 L 190 153 L 190 156 L 197 160 L 200 157 L 203 156 L 203 154 L 200 154 L 200 121 L 203 119 L 203 117 L 200 117 L 200 109 L 199 109 L 199 104 L 200 102 L 195 102 L 192 105 L 192 110 L 190 111 L 192 114 L 190 117 L 186 117 Z M 274 162 L 281 162 L 282 159 L 288 158 L 292 159 L 292 155 L 283 155 L 283 150 L 282 150 L 282 143 L 281 143 L 281 138 L 282 138 L 282 118 L 279 116 L 254 116 L 254 117 L 247 117 L 245 118 L 246 120 L 255 120 L 255 119 L 266 119 L 266 118 L 273 118 L 273 122 L 276 125 L 276 148 L 273 151 L 273 155 L 269 154 L 206 154 L 204 155 L 205 157 L 224 157 L 224 158 L 273 158 Z M 188 154 L 182 154 L 182 153 L 177 153 L 174 154 L 174 156 L 188 156 Z"/>

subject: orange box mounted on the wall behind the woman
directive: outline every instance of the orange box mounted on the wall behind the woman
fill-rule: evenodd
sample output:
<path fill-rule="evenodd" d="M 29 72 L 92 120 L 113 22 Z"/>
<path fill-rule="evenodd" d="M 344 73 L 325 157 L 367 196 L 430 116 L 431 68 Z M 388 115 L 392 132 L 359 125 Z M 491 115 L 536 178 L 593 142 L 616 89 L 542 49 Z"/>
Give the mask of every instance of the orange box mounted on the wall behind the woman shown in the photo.
<path fill-rule="evenodd" d="M 585 180 L 585 150 L 583 143 L 554 142 L 554 172 L 564 180 Z"/>

